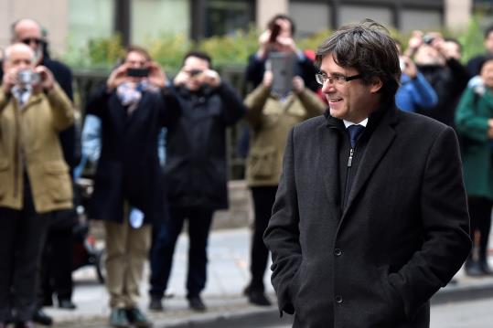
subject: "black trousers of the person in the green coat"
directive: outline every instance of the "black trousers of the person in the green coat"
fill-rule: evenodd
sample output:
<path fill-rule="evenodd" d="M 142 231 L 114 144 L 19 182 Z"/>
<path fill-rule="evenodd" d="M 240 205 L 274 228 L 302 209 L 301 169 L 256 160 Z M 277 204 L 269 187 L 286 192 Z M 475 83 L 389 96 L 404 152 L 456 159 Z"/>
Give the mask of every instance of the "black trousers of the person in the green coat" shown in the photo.
<path fill-rule="evenodd" d="M 491 208 L 493 202 L 485 197 L 469 196 L 467 198 L 469 208 L 470 234 L 475 240 L 475 233 L 479 231 L 479 259 L 487 259 L 489 230 L 491 228 Z M 473 251 L 473 250 L 471 250 Z"/>

